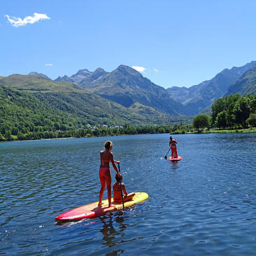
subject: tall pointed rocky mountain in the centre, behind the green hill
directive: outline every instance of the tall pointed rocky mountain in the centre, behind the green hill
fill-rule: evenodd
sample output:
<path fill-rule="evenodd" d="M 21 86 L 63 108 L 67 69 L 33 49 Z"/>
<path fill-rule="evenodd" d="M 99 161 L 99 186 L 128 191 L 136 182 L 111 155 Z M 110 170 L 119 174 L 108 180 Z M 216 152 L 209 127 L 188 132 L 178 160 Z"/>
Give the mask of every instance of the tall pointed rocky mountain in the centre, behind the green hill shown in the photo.
<path fill-rule="evenodd" d="M 120 65 L 92 82 L 83 80 L 80 86 L 127 108 L 138 102 L 169 115 L 186 114 L 184 106 L 174 101 L 163 87 L 155 85 L 129 66 Z"/>

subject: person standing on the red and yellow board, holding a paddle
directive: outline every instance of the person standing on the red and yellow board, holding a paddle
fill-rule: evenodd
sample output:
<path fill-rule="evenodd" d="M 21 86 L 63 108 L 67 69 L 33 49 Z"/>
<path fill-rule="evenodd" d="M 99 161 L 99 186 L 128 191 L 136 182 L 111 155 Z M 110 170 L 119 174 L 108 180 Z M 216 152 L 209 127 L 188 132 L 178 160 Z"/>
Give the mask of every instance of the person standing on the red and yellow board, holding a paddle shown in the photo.
<path fill-rule="evenodd" d="M 101 166 L 99 167 L 99 179 L 101 180 L 101 190 L 99 191 L 99 206 L 103 204 L 102 197 L 106 186 L 108 190 L 108 207 L 111 207 L 113 205 L 111 204 L 111 168 L 109 167 L 109 163 L 112 163 L 118 176 L 121 176 L 118 168 L 115 166 L 115 164 L 119 164 L 120 161 L 114 160 L 113 153 L 111 152 L 113 148 L 111 141 L 106 141 L 104 147 L 105 150 L 101 150 L 100 152 Z"/>

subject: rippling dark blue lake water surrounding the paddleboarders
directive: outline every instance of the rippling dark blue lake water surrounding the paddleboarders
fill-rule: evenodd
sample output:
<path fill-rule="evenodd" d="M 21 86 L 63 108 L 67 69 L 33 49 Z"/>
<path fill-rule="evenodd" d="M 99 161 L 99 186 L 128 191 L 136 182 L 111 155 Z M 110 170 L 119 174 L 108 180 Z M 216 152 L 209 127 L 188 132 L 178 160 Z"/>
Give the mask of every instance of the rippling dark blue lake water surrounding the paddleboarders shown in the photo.
<path fill-rule="evenodd" d="M 256 135 L 173 137 L 176 163 L 168 134 L 0 143 L 0 255 L 255 255 Z M 149 198 L 57 225 L 98 201 L 107 139 L 127 191 Z"/>

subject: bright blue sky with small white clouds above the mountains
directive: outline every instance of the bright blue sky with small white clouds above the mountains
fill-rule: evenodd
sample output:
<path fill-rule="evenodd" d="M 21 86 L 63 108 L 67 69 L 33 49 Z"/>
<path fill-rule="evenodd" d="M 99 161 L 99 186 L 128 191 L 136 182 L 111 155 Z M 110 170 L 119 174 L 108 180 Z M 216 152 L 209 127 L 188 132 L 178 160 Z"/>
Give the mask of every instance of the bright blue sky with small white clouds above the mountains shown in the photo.
<path fill-rule="evenodd" d="M 256 60 L 255 10 L 254 0 L 2 1 L 0 76 L 125 64 L 190 87 Z"/>

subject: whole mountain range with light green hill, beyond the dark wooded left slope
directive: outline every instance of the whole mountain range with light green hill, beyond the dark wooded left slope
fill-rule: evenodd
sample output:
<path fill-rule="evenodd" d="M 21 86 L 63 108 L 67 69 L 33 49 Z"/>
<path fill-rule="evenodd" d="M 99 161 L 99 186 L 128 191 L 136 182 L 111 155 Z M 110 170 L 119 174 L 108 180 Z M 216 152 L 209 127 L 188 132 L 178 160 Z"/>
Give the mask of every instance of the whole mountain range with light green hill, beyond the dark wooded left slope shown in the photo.
<path fill-rule="evenodd" d="M 211 80 L 189 88 L 164 89 L 125 65 L 111 72 L 81 69 L 55 80 L 36 72 L 13 74 L 0 76 L 0 84 L 33 94 L 88 123 L 166 124 L 209 113 L 211 104 L 226 94 L 255 94 L 256 62 L 224 69 Z"/>

